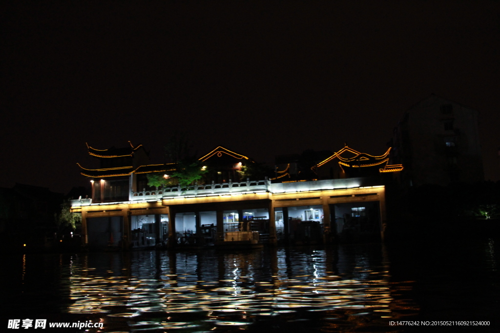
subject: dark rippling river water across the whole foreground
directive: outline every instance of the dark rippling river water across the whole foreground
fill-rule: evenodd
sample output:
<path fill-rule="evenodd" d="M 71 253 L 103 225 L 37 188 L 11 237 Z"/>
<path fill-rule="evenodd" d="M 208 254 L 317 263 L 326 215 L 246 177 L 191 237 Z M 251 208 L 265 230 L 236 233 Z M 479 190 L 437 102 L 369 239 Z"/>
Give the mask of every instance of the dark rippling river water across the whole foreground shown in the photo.
<path fill-rule="evenodd" d="M 1 325 L 46 319 L 102 323 L 87 332 L 498 332 L 499 244 L 483 237 L 237 253 L 3 254 Z M 489 326 L 390 325 L 397 321 Z"/>

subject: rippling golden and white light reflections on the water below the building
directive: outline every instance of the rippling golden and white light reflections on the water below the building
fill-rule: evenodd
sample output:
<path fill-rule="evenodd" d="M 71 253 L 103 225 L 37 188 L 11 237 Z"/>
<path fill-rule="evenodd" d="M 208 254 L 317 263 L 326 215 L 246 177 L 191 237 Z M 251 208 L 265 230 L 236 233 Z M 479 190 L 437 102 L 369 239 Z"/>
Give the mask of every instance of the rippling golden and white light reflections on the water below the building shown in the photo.
<path fill-rule="evenodd" d="M 105 331 L 386 328 L 418 310 L 404 297 L 412 282 L 391 282 L 386 257 L 379 244 L 73 255 L 63 311 Z"/>

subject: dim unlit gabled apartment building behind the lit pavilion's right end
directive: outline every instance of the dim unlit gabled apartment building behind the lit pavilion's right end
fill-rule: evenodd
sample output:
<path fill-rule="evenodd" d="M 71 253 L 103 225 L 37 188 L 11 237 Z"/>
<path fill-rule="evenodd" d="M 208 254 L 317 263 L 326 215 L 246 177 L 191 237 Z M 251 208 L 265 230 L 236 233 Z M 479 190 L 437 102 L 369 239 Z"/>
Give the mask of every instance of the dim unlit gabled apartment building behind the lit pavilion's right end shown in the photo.
<path fill-rule="evenodd" d="M 403 186 L 484 180 L 477 118 L 476 110 L 436 95 L 405 111 L 391 140 Z"/>

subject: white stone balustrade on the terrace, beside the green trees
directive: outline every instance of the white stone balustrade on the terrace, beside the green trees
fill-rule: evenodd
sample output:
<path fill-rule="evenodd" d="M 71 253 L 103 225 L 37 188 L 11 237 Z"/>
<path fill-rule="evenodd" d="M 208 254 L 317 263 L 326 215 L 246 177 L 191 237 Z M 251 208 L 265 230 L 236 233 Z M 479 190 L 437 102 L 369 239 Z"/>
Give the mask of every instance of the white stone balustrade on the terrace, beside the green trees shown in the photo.
<path fill-rule="evenodd" d="M 269 191 L 271 186 L 271 181 L 267 179 L 264 180 L 249 180 L 246 178 L 244 182 L 233 182 L 229 179 L 227 183 L 215 184 L 213 181 L 211 184 L 198 185 L 194 184 L 188 188 L 181 188 L 180 186 L 169 186 L 160 187 L 155 190 L 146 191 L 142 189 L 139 192 L 131 192 L 131 201 L 142 201 L 142 200 L 161 200 L 164 197 L 177 197 L 177 196 L 191 196 L 191 195 L 210 195 L 210 194 L 224 194 L 224 193 L 234 193 L 234 192 L 252 192 L 252 191 Z"/>

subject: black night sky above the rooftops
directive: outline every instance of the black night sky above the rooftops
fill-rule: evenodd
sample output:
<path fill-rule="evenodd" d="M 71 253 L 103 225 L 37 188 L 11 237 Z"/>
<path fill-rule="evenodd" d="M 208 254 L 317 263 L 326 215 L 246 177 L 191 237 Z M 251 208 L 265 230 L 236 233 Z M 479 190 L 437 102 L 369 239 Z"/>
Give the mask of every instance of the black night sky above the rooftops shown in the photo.
<path fill-rule="evenodd" d="M 257 161 L 378 155 L 431 93 L 480 112 L 500 179 L 498 1 L 2 1 L 1 183 L 67 193 L 76 162 L 174 131 Z M 62 2 L 62 1 L 61 1 Z"/>

